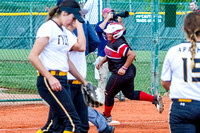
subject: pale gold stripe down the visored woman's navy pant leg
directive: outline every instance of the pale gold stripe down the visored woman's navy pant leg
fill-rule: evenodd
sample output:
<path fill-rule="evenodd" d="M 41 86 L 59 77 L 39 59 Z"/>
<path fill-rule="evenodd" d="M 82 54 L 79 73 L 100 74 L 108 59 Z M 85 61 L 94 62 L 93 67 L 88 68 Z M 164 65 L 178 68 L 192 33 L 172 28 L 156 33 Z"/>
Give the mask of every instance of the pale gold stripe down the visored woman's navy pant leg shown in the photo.
<path fill-rule="evenodd" d="M 62 103 L 58 100 L 58 98 L 54 95 L 54 93 L 52 92 L 51 88 L 49 87 L 49 85 L 47 84 L 47 79 L 44 77 L 44 83 L 46 85 L 46 87 L 48 88 L 48 91 L 51 93 L 51 95 L 55 98 L 56 102 L 60 105 L 60 107 L 63 109 L 63 111 L 65 112 L 65 114 L 67 115 L 71 126 L 72 126 L 72 132 L 75 131 L 75 125 L 72 121 L 72 118 L 70 117 L 70 115 L 68 114 L 67 110 L 65 109 L 65 107 L 62 105 Z"/>

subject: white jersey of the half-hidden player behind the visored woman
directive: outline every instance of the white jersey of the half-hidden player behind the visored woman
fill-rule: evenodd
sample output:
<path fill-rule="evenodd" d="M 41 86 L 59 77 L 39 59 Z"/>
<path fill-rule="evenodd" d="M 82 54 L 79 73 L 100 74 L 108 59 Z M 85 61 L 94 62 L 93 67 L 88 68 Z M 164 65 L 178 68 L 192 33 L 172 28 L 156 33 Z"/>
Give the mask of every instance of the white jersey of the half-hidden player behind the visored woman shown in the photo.
<path fill-rule="evenodd" d="M 77 42 L 77 37 L 75 34 L 71 33 L 71 38 L 69 41 Z M 87 72 L 87 63 L 85 58 L 85 52 L 78 52 L 78 51 L 70 51 L 69 52 L 69 59 L 74 64 L 78 72 L 83 76 L 83 78 L 86 78 L 86 72 Z M 68 80 L 76 80 L 74 76 L 72 76 L 70 73 L 67 74 Z"/>

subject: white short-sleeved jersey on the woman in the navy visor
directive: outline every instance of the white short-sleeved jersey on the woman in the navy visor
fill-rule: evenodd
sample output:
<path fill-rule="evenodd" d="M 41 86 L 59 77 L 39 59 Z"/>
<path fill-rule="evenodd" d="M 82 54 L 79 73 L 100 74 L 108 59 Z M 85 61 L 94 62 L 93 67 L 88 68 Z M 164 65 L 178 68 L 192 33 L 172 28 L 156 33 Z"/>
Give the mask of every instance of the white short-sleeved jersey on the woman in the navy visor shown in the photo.
<path fill-rule="evenodd" d="M 47 70 L 69 70 L 67 52 L 73 46 L 69 42 L 71 32 L 60 28 L 53 20 L 49 20 L 38 29 L 36 38 L 49 37 L 49 43 L 39 55 L 39 58 Z"/>

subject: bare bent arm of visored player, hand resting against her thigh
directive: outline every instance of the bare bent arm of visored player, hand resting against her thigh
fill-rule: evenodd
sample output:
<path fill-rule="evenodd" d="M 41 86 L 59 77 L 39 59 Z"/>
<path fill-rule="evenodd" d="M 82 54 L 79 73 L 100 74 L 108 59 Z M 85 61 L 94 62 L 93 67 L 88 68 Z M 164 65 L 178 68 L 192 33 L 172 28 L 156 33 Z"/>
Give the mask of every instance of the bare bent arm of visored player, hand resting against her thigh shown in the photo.
<path fill-rule="evenodd" d="M 29 54 L 29 60 L 31 64 L 49 81 L 51 89 L 54 91 L 62 90 L 60 82 L 53 76 L 46 68 L 43 66 L 42 62 L 39 59 L 40 53 L 43 51 L 45 46 L 48 44 L 48 37 L 37 38 L 33 48 Z"/>

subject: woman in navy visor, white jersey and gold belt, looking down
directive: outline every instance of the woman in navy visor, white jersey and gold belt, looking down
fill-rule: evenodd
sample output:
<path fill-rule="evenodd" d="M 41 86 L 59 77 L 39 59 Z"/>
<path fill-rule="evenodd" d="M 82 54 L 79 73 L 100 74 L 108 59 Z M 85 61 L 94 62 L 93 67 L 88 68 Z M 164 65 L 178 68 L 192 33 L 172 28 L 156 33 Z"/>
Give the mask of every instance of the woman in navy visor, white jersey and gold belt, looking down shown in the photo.
<path fill-rule="evenodd" d="M 40 96 L 50 105 L 50 116 L 58 118 L 57 125 L 51 125 L 53 118 L 47 129 L 39 130 L 43 132 L 63 132 L 79 133 L 81 129 L 80 118 L 71 100 L 70 88 L 67 83 L 68 71 L 83 85 L 87 82 L 78 73 L 67 52 L 73 46 L 73 42 L 68 39 L 71 35 L 67 27 L 76 21 L 77 28 L 82 29 L 84 20 L 80 15 L 80 6 L 75 0 L 65 1 L 54 7 L 45 22 L 37 32 L 35 44 L 29 55 L 32 65 L 38 70 L 37 88 Z M 85 36 L 82 29 L 80 41 L 85 44 Z M 79 46 L 80 48 L 82 45 Z M 59 124 L 64 126 L 64 131 L 59 130 Z M 55 128 L 49 127 L 55 126 Z"/>

